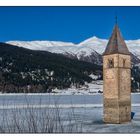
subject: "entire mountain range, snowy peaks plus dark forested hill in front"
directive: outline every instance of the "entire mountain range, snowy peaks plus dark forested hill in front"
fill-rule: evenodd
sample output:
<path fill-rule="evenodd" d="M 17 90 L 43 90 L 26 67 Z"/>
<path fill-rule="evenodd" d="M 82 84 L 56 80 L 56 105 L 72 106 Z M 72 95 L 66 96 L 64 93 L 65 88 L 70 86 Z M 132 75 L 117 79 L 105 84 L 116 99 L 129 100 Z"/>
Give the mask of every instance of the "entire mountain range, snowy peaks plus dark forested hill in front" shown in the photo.
<path fill-rule="evenodd" d="M 79 44 L 60 41 L 0 43 L 0 92 L 51 92 L 102 80 L 102 53 L 108 40 Z M 132 91 L 140 90 L 140 40 L 126 40 L 132 56 Z M 94 79 L 93 77 L 97 77 Z"/>

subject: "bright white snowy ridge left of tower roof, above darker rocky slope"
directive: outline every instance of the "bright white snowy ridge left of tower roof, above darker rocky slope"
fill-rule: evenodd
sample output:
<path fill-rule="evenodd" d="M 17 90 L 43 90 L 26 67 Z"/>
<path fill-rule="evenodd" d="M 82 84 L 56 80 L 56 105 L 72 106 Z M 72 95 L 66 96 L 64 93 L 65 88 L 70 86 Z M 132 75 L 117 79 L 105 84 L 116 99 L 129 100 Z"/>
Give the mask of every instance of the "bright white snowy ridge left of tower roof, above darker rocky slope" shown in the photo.
<path fill-rule="evenodd" d="M 8 41 L 8 44 L 24 47 L 31 50 L 43 50 L 53 53 L 70 53 L 73 55 L 89 56 L 93 52 L 102 53 L 107 40 L 97 37 L 89 38 L 79 44 L 60 41 Z"/>

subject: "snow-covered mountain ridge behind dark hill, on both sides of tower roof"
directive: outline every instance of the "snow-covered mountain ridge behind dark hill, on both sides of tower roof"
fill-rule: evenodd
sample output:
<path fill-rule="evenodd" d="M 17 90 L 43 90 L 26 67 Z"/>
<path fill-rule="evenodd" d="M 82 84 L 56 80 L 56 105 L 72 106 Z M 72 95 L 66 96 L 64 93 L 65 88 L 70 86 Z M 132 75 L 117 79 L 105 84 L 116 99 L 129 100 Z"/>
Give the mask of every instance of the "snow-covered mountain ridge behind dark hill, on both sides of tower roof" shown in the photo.
<path fill-rule="evenodd" d="M 87 40 L 74 44 L 61 41 L 8 41 L 6 43 L 31 50 L 43 50 L 52 53 L 59 53 L 79 60 L 101 64 L 101 54 L 107 45 L 108 40 L 93 36 Z M 126 40 L 128 49 L 133 54 L 136 63 L 140 63 L 140 39 Z"/>

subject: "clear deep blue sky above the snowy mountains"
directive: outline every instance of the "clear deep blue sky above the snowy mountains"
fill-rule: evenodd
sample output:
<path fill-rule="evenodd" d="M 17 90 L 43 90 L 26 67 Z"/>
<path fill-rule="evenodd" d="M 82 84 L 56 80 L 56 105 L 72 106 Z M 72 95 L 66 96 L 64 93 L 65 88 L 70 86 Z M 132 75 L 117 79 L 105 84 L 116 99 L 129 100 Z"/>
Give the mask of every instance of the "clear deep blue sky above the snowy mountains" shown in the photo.
<path fill-rule="evenodd" d="M 108 39 L 115 15 L 125 39 L 140 39 L 140 7 L 0 7 L 0 42 Z"/>

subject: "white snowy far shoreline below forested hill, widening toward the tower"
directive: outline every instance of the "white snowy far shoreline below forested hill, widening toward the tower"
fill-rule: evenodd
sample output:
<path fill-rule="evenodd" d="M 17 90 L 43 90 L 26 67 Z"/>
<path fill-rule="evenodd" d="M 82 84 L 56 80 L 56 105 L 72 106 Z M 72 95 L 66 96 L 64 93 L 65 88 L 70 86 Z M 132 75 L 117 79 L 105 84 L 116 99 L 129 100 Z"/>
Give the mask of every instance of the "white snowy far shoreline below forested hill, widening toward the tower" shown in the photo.
<path fill-rule="evenodd" d="M 92 75 L 93 78 L 93 75 Z M 95 76 L 94 76 L 95 78 Z M 140 94 L 140 92 L 132 92 L 131 94 Z M 84 86 L 76 88 L 76 87 L 71 87 L 68 89 L 53 89 L 52 92 L 50 93 L 1 93 L 0 96 L 8 96 L 8 95 L 54 95 L 54 96 L 61 96 L 61 95 L 103 95 L 103 81 L 102 80 L 97 80 L 97 81 L 92 81 L 92 83 L 85 83 Z"/>

